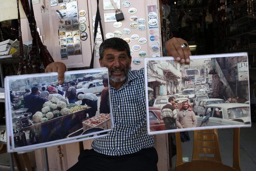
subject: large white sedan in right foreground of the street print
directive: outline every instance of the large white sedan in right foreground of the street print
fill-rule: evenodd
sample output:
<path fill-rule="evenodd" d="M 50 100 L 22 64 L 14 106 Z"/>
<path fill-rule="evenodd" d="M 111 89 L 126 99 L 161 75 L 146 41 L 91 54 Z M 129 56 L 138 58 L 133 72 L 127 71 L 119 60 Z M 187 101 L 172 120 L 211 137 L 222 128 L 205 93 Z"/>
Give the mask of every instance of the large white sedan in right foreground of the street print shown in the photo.
<path fill-rule="evenodd" d="M 203 114 L 196 116 L 197 126 L 200 125 L 208 113 L 211 113 L 211 117 L 202 126 L 251 124 L 250 108 L 248 104 L 229 103 L 227 105 L 223 103 L 207 105 Z"/>

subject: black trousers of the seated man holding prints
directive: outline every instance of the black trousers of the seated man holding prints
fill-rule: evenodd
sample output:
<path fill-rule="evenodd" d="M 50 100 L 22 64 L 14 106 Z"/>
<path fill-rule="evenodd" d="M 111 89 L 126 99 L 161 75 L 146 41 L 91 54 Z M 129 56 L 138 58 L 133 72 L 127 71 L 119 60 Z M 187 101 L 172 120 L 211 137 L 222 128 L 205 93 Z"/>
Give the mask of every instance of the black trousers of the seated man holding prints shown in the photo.
<path fill-rule="evenodd" d="M 87 149 L 81 152 L 78 162 L 67 171 L 157 171 L 157 162 L 154 147 L 122 156 L 108 156 Z"/>

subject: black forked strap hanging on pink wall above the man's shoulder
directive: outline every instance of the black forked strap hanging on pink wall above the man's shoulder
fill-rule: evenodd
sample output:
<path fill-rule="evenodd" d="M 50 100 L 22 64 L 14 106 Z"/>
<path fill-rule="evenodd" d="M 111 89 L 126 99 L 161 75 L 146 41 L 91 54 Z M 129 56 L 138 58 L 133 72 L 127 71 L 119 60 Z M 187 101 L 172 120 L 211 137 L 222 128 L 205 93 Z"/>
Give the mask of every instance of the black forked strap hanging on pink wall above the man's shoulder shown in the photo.
<path fill-rule="evenodd" d="M 92 50 L 92 59 L 90 63 L 90 69 L 93 68 L 93 63 L 94 63 L 94 47 L 95 47 L 95 40 L 96 40 L 99 23 L 100 23 L 100 32 L 102 36 L 102 41 L 104 41 L 103 29 L 102 29 L 101 19 L 100 19 L 99 0 L 97 0 L 97 12 L 96 12 L 96 18 L 95 18 L 95 25 L 94 25 L 93 50 Z"/>

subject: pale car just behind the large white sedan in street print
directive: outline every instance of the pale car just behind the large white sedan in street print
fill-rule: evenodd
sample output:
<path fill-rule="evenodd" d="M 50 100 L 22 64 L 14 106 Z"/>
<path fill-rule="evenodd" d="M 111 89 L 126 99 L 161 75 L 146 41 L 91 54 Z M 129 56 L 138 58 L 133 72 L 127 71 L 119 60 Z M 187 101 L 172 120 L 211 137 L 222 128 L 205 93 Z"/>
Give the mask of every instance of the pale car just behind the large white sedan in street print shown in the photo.
<path fill-rule="evenodd" d="M 196 115 L 201 115 L 204 113 L 204 110 L 206 108 L 206 105 L 209 104 L 219 104 L 224 103 L 225 101 L 223 99 L 203 99 L 199 101 L 199 105 L 194 106 L 194 113 Z"/>

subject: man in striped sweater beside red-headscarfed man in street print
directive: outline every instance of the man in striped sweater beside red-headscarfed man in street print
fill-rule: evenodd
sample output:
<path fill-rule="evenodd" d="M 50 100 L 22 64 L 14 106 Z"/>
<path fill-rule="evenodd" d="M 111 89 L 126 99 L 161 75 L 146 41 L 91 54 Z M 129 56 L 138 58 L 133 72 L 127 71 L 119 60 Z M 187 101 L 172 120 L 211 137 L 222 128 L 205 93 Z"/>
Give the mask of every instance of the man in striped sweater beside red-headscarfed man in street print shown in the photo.
<path fill-rule="evenodd" d="M 177 117 L 177 111 L 173 106 L 175 103 L 174 97 L 169 97 L 168 103 L 163 106 L 161 112 L 161 119 L 163 119 L 165 124 L 165 130 L 173 130 L 176 129 L 175 120 Z"/>

